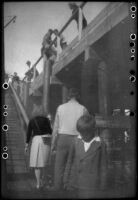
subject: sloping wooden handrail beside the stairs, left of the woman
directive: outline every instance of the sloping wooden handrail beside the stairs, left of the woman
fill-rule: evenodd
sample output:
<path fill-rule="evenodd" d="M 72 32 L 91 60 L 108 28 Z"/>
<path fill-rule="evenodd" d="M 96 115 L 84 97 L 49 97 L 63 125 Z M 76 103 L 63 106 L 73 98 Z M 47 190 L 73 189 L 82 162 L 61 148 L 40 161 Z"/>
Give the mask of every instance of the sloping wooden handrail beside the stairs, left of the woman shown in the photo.
<path fill-rule="evenodd" d="M 23 118 L 24 118 L 24 121 L 25 121 L 26 125 L 28 125 L 28 123 L 29 123 L 29 118 L 28 118 L 28 116 L 27 116 L 27 114 L 26 114 L 26 112 L 25 112 L 25 109 L 24 109 L 24 107 L 22 106 L 22 104 L 21 104 L 21 102 L 20 102 L 20 99 L 19 99 L 18 95 L 16 94 L 16 92 L 15 92 L 15 90 L 14 90 L 12 84 L 9 83 L 9 85 L 10 85 L 10 87 L 11 87 L 11 90 L 12 90 L 13 94 L 14 94 L 14 97 L 15 97 L 15 99 L 16 99 L 16 102 L 17 102 L 17 104 L 18 104 L 18 106 L 19 106 L 19 108 L 20 108 L 20 111 L 21 111 L 21 114 L 22 114 L 22 116 L 23 116 Z"/>

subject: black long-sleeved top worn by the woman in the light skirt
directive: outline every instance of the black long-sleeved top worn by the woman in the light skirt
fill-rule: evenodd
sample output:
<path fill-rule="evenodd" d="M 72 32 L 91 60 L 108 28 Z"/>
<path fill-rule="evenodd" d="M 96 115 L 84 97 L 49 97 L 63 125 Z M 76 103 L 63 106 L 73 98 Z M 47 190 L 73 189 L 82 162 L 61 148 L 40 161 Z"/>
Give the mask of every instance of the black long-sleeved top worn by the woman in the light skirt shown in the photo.
<path fill-rule="evenodd" d="M 50 121 L 44 116 L 34 117 L 29 121 L 27 129 L 26 143 L 30 142 L 31 137 L 35 135 L 52 134 Z"/>

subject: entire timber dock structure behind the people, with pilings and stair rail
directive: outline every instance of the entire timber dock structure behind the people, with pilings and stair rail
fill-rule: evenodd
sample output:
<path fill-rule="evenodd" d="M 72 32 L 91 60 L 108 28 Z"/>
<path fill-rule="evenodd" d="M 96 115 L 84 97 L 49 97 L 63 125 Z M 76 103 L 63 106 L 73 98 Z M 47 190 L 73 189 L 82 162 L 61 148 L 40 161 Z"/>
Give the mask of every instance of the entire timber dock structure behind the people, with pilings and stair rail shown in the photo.
<path fill-rule="evenodd" d="M 136 109 L 135 99 L 130 96 L 135 86 L 129 81 L 129 72 L 135 69 L 135 63 L 130 60 L 129 36 L 135 27 L 129 12 L 129 3 L 107 3 L 82 30 L 81 38 L 77 36 L 62 51 L 57 62 L 51 65 L 45 55 L 40 56 L 26 72 L 20 93 L 10 85 L 24 132 L 34 104 L 42 104 L 45 113 L 54 119 L 57 107 L 67 101 L 69 88 L 80 91 L 80 102 L 95 115 L 98 133 L 108 147 L 109 184 L 114 182 L 116 187 L 125 182 L 124 188 L 129 188 L 129 194 L 124 188 L 120 191 L 121 197 L 135 190 L 135 116 L 125 115 L 126 109 Z M 70 22 L 71 18 L 60 33 Z M 41 59 L 43 71 L 31 82 L 30 73 Z M 116 109 L 120 113 L 115 115 Z M 130 137 L 127 142 L 126 133 Z M 110 193 L 111 197 L 117 195 Z"/>

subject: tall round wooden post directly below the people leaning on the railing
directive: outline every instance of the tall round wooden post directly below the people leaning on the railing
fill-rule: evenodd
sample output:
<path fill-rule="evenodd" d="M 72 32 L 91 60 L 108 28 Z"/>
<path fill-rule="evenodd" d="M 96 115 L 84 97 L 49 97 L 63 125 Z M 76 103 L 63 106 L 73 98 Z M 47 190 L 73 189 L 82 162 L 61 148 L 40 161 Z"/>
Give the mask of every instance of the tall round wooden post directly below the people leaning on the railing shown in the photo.
<path fill-rule="evenodd" d="M 46 114 L 49 113 L 49 95 L 50 95 L 50 75 L 51 62 L 44 54 L 44 68 L 43 68 L 43 109 Z"/>

